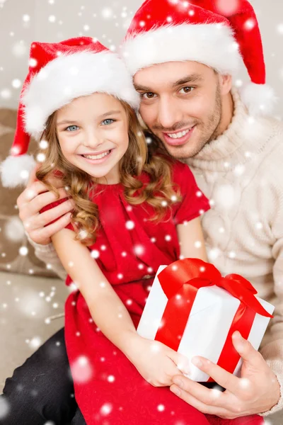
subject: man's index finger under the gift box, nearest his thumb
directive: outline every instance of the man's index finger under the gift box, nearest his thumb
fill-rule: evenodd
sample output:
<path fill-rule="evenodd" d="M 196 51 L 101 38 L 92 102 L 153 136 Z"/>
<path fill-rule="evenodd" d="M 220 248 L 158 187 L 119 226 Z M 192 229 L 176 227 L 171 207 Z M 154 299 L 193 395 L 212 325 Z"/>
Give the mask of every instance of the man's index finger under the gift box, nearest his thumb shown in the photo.
<path fill-rule="evenodd" d="M 207 358 L 199 356 L 193 357 L 192 363 L 197 366 L 197 368 L 207 373 L 207 375 L 217 382 L 217 384 L 221 385 L 221 387 L 233 392 L 233 394 L 238 392 L 240 378 L 227 372 L 219 365 L 212 363 L 212 361 L 207 360 Z"/>

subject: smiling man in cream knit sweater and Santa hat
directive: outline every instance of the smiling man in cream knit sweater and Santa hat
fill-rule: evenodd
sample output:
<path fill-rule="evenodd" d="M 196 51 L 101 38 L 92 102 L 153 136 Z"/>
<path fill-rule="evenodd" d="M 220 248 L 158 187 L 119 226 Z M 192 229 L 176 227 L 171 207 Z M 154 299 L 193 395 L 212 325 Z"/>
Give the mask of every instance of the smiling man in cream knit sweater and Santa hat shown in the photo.
<path fill-rule="evenodd" d="M 276 307 L 261 354 L 234 336 L 243 357 L 242 378 L 198 359 L 198 367 L 225 392 L 216 397 L 183 376 L 176 376 L 171 386 L 201 412 L 235 418 L 283 407 L 283 128 L 272 118 L 255 117 L 257 110 L 268 112 L 271 92 L 265 87 L 253 8 L 246 0 L 237 1 L 224 17 L 217 4 L 171 0 L 161 8 L 158 0 L 145 1 L 133 18 L 122 55 L 141 94 L 144 123 L 173 157 L 187 162 L 211 200 L 212 210 L 202 220 L 209 260 L 224 275 L 248 278 L 258 295 Z M 253 82 L 241 97 L 232 88 L 241 60 L 238 47 Z M 41 183 L 30 183 L 18 208 L 37 243 L 37 256 L 62 273 L 50 236 L 67 225 L 72 204 L 69 200 L 38 215 L 54 200 L 45 190 Z M 64 189 L 60 195 L 66 196 Z M 63 344 L 62 331 L 58 338 Z"/>

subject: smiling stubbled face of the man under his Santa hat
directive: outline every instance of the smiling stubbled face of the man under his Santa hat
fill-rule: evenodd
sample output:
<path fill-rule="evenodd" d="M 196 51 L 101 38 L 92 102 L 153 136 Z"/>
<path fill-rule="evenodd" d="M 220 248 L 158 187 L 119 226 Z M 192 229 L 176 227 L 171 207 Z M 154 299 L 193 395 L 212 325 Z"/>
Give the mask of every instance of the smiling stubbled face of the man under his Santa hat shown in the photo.
<path fill-rule="evenodd" d="M 228 89 L 213 69 L 189 61 L 156 64 L 137 72 L 134 86 L 141 118 L 173 157 L 193 157 L 218 135 Z"/>

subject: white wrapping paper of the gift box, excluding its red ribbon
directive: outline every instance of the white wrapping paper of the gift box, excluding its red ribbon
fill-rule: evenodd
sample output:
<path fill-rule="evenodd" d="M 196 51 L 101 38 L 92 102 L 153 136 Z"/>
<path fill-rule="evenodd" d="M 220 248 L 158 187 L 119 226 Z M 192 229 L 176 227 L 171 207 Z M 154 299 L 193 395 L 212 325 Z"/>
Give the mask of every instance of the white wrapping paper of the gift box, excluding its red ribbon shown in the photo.
<path fill-rule="evenodd" d="M 151 340 L 155 339 L 168 301 L 158 280 L 158 273 L 164 268 L 166 266 L 158 268 L 137 328 L 140 336 Z M 259 297 L 257 298 L 262 307 L 272 314 L 275 307 L 269 302 Z M 197 382 L 206 382 L 209 379 L 209 375 L 193 365 L 191 359 L 194 356 L 202 356 L 217 363 L 239 305 L 240 301 L 237 298 L 216 285 L 200 288 L 197 291 L 197 296 L 192 305 L 190 317 L 187 320 L 178 348 L 178 353 L 183 354 L 190 361 L 188 378 Z M 178 320 L 178 317 L 172 317 L 172 319 Z M 261 316 L 258 313 L 255 314 L 248 341 L 256 350 L 260 346 L 269 321 L 269 317 Z M 242 361 L 240 360 L 233 372 L 234 375 L 239 375 L 241 364 Z"/>

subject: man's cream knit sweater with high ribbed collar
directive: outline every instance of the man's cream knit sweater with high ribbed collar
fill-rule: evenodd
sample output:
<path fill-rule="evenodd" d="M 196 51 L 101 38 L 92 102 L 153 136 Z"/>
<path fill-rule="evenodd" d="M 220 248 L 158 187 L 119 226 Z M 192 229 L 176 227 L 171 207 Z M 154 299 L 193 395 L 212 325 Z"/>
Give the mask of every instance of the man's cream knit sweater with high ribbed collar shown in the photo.
<path fill-rule="evenodd" d="M 211 200 L 202 218 L 209 261 L 223 275 L 238 273 L 275 305 L 260 352 L 277 375 L 282 397 L 265 415 L 283 408 L 283 125 L 250 118 L 233 90 L 229 128 L 187 164 Z M 52 245 L 36 255 L 64 270 Z"/>

